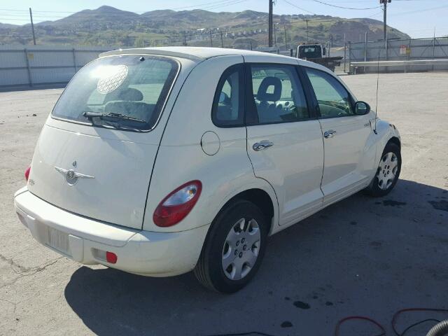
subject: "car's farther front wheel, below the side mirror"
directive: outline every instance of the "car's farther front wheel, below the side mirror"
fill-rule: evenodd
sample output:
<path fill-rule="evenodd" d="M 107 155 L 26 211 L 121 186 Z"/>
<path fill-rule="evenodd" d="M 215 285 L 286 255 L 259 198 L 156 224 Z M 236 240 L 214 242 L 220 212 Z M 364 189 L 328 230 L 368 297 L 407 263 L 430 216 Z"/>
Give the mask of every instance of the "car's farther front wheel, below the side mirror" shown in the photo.
<path fill-rule="evenodd" d="M 388 143 L 381 154 L 377 172 L 365 189 L 365 192 L 373 197 L 386 196 L 391 192 L 398 181 L 401 172 L 400 147 L 393 143 Z"/>

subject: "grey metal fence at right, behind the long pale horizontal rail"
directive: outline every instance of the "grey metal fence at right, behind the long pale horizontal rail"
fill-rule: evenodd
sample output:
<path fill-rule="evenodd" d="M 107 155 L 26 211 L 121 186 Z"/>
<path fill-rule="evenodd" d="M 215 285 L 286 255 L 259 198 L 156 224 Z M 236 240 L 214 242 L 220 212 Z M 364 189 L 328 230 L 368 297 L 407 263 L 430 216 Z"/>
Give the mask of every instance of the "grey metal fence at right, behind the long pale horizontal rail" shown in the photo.
<path fill-rule="evenodd" d="M 441 38 L 417 38 L 409 40 L 389 40 L 386 48 L 384 41 L 368 41 L 349 43 L 347 55 L 349 62 L 375 62 L 378 61 L 407 61 L 417 59 L 448 59 L 448 37 Z M 444 65 L 412 65 L 412 66 L 388 66 L 387 71 L 440 71 L 448 70 Z M 368 68 L 365 71 L 374 71 L 375 68 Z M 380 71 L 384 72 L 383 67 Z"/>

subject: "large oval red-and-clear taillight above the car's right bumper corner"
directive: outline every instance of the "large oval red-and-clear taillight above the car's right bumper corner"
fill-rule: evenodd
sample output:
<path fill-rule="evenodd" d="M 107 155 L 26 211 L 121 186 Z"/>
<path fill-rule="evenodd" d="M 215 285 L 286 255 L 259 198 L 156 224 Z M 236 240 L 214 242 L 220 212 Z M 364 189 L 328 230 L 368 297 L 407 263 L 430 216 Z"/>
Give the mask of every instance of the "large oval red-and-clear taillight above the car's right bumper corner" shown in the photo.
<path fill-rule="evenodd" d="M 201 195 L 201 181 L 190 181 L 169 193 L 155 209 L 153 221 L 162 228 L 175 225 L 186 218 Z"/>

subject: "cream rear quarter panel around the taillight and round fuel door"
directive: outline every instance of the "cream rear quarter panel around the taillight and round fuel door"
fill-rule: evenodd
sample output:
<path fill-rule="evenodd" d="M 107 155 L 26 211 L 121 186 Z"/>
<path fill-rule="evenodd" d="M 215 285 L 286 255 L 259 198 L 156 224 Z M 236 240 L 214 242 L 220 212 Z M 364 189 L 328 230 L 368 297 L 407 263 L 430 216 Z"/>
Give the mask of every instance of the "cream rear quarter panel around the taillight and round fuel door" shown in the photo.
<path fill-rule="evenodd" d="M 146 203 L 144 230 L 179 232 L 209 225 L 228 200 L 238 193 L 260 188 L 274 200 L 274 223 L 278 206 L 274 190 L 266 181 L 256 179 L 246 152 L 246 127 L 221 128 L 211 121 L 211 106 L 218 80 L 225 69 L 244 62 L 232 55 L 207 59 L 197 65 L 184 83 L 169 117 L 155 162 Z M 219 151 L 202 151 L 202 135 L 211 131 L 219 138 Z M 172 190 L 192 180 L 202 182 L 202 194 L 193 210 L 180 223 L 159 228 L 153 213 Z"/>

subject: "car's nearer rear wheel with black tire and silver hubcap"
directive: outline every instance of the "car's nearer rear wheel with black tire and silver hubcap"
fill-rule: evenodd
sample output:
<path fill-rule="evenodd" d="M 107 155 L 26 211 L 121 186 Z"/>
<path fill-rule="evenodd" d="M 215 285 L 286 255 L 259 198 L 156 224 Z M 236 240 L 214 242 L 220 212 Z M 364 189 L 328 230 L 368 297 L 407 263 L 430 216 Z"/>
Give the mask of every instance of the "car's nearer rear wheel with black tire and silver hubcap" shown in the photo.
<path fill-rule="evenodd" d="M 267 218 L 252 202 L 238 200 L 214 219 L 195 267 L 207 288 L 235 293 L 251 281 L 265 255 Z"/>

